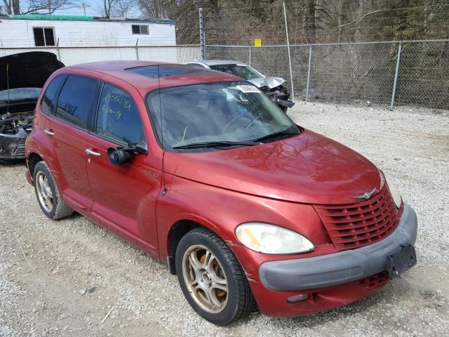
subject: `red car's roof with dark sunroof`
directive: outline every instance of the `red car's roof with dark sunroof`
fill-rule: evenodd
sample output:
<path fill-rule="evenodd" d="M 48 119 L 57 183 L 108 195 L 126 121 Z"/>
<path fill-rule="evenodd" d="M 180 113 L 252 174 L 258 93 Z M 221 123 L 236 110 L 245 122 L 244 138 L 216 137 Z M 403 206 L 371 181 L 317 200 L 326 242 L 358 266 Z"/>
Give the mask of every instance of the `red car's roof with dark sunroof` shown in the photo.
<path fill-rule="evenodd" d="M 158 66 L 159 70 L 157 70 Z M 116 77 L 134 86 L 142 96 L 159 88 L 159 85 L 161 88 L 166 88 L 220 81 L 242 81 L 240 77 L 225 72 L 168 62 L 91 62 L 65 67 L 61 72 L 70 73 L 71 69 L 88 70 Z"/>

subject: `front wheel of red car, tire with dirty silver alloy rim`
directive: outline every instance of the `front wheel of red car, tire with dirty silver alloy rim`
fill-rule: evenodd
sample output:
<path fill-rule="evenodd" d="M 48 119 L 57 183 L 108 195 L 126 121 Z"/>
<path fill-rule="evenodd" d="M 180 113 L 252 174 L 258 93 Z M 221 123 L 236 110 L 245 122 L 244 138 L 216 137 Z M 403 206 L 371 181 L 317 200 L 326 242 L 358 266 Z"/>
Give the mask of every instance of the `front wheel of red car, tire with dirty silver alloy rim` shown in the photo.
<path fill-rule="evenodd" d="M 196 229 L 182 237 L 176 250 L 176 272 L 189 304 L 213 324 L 230 324 L 254 308 L 239 260 L 213 232 Z"/>

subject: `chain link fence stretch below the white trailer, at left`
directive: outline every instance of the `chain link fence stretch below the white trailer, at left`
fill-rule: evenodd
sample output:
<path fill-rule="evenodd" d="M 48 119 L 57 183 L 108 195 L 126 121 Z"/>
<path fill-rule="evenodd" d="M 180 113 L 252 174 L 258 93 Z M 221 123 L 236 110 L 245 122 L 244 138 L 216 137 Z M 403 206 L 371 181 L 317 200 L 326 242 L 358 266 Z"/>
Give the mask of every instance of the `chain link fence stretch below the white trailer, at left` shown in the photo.
<path fill-rule="evenodd" d="M 88 46 L 0 48 L 0 57 L 28 51 L 48 51 L 58 56 L 65 65 L 85 62 L 147 60 L 159 62 L 187 62 L 199 60 L 199 45 L 185 46 Z"/>

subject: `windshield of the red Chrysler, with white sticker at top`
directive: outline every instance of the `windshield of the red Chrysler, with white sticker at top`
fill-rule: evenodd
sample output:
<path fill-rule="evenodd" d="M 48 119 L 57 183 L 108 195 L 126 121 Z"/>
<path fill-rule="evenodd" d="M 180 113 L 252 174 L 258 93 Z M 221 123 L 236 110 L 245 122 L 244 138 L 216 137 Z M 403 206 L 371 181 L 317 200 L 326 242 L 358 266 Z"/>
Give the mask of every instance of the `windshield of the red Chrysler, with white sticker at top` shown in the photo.
<path fill-rule="evenodd" d="M 298 133 L 293 121 L 248 82 L 163 88 L 150 93 L 147 103 L 159 143 L 169 151 L 197 143 L 255 145 L 274 133 Z"/>

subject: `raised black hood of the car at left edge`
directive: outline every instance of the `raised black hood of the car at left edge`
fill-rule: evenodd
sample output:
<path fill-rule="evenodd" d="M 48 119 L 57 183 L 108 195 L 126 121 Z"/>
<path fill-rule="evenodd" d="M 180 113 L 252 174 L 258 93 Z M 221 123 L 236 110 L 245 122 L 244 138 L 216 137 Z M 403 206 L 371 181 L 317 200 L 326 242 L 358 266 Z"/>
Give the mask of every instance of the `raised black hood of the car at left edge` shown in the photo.
<path fill-rule="evenodd" d="M 9 88 L 42 88 L 55 70 L 65 67 L 53 53 L 31 51 L 0 58 L 0 91 Z"/>

